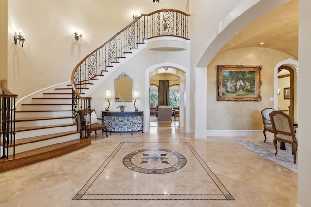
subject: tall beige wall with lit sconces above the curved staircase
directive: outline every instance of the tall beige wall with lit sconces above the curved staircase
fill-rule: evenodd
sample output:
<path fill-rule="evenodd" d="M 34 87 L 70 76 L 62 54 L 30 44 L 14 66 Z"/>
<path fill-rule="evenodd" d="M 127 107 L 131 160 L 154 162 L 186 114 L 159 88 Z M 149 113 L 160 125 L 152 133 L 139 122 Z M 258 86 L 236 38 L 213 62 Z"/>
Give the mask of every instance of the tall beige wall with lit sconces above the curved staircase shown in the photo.
<path fill-rule="evenodd" d="M 74 66 L 128 25 L 133 13 L 147 14 L 163 8 L 184 11 L 185 2 L 10 0 L 8 26 L 3 27 L 3 31 L 8 28 L 9 88 L 21 98 L 67 82 Z M 13 43 L 14 31 L 19 29 L 25 34 L 23 48 Z M 82 41 L 74 39 L 75 31 L 82 32 Z"/>

